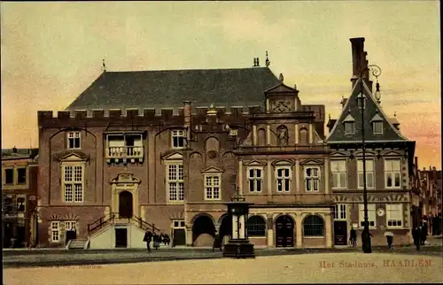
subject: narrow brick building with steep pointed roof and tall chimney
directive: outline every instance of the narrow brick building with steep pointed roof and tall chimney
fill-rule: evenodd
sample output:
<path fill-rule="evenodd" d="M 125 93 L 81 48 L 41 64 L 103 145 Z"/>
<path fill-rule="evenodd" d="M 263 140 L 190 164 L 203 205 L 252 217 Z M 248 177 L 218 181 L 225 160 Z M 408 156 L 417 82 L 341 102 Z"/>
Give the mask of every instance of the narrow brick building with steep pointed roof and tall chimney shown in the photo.
<path fill-rule="evenodd" d="M 411 195 L 415 142 L 400 132 L 400 123 L 388 118 L 369 81 L 364 38 L 351 39 L 353 77 L 351 96 L 341 102 L 338 119 L 330 119 L 331 189 L 334 193 L 335 244 L 346 244 L 351 227 L 357 229 L 359 243 L 363 227 L 363 166 L 361 145 L 361 94 L 363 94 L 366 185 L 368 189 L 369 230 L 373 244 L 385 244 L 386 230 L 394 234 L 394 243 L 411 242 Z M 362 81 L 360 79 L 361 71 Z M 362 90 L 362 92 L 361 92 Z"/>

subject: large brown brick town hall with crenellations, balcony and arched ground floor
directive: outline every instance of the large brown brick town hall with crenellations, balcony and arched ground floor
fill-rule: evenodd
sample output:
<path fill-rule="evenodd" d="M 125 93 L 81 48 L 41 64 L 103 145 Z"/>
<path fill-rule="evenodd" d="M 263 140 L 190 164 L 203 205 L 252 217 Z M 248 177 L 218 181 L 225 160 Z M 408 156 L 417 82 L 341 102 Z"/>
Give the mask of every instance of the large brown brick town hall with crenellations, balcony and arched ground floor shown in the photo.
<path fill-rule="evenodd" d="M 66 111 L 38 112 L 40 243 L 144 247 L 155 227 L 211 245 L 238 190 L 256 245 L 330 247 L 324 106 L 257 65 L 104 72 Z"/>

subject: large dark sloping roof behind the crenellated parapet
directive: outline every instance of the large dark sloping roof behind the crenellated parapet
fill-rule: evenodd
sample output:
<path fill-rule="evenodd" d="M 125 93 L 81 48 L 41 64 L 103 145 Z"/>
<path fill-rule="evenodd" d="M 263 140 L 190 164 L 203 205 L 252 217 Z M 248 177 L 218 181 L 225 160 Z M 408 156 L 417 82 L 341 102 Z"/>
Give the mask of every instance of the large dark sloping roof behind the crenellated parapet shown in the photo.
<path fill-rule="evenodd" d="M 66 110 L 263 105 L 278 83 L 267 67 L 105 72 Z"/>

